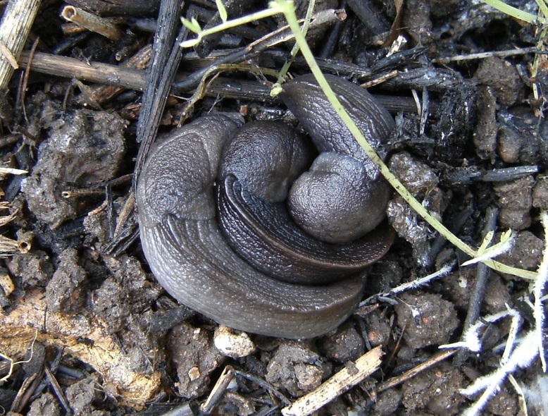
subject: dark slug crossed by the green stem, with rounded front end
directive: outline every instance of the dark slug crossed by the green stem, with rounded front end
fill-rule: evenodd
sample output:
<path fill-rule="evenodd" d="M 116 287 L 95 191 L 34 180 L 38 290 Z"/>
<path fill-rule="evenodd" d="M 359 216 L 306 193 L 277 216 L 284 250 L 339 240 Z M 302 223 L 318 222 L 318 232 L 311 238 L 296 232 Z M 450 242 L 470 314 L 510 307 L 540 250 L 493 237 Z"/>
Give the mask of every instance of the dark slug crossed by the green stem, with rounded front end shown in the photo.
<path fill-rule="evenodd" d="M 334 75 L 325 78 L 370 145 L 384 145 L 395 127 L 388 111 L 359 85 Z M 391 193 L 378 166 L 354 140 L 313 75 L 287 82 L 280 98 L 320 152 L 289 192 L 294 221 L 328 243 L 346 243 L 372 231 L 385 218 Z"/>

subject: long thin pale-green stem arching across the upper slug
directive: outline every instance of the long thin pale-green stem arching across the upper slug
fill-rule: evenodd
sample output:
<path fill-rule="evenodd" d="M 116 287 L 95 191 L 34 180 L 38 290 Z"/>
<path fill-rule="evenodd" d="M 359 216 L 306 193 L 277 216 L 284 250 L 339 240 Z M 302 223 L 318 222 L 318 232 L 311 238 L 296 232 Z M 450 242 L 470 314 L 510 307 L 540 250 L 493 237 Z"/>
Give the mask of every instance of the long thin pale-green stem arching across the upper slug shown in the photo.
<path fill-rule="evenodd" d="M 271 2 L 271 4 L 274 2 Z M 478 254 L 475 250 L 473 250 L 471 247 L 463 243 L 462 240 L 460 240 L 456 235 L 454 235 L 447 227 L 445 227 L 443 224 L 440 223 L 440 221 L 437 221 L 433 216 L 431 216 L 428 211 L 423 207 L 421 202 L 418 202 L 413 195 L 411 195 L 404 185 L 390 172 L 384 161 L 378 156 L 377 152 L 375 152 L 375 149 L 371 147 L 371 145 L 366 140 L 366 137 L 363 136 L 363 133 L 359 130 L 359 128 L 356 126 L 356 123 L 350 118 L 347 111 L 344 110 L 342 104 L 340 103 L 339 99 L 335 96 L 333 91 L 331 90 L 331 87 L 328 83 L 328 81 L 323 76 L 323 73 L 320 70 L 320 67 L 318 66 L 318 63 L 316 63 L 316 59 L 314 59 L 314 56 L 312 54 L 312 51 L 309 48 L 309 45 L 306 43 L 306 39 L 304 38 L 303 34 L 301 33 L 299 23 L 297 22 L 297 16 L 294 13 L 294 8 L 292 6 L 292 2 L 287 2 L 284 0 L 277 0 L 275 1 L 275 4 L 280 6 L 282 9 L 282 12 L 284 13 L 285 19 L 287 20 L 287 24 L 289 27 L 291 27 L 292 32 L 294 33 L 295 41 L 299 45 L 299 48 L 301 49 L 301 54 L 304 56 L 304 59 L 306 60 L 306 63 L 308 63 L 311 72 L 316 77 L 316 80 L 318 81 L 318 84 L 322 88 L 323 92 L 325 92 L 326 96 L 328 97 L 328 100 L 330 104 L 333 106 L 337 114 L 340 116 L 342 121 L 346 124 L 346 126 L 349 128 L 351 133 L 356 138 L 356 141 L 359 143 L 359 145 L 365 150 L 368 157 L 380 168 L 380 171 L 382 173 L 382 176 L 385 176 L 387 181 L 392 185 L 392 187 L 401 195 L 402 198 L 413 208 L 417 214 L 419 214 L 432 228 L 434 228 L 437 232 L 444 235 L 447 240 L 449 240 L 450 243 L 455 245 L 459 250 L 465 252 L 467 255 L 471 257 L 476 257 Z M 532 271 L 527 271 L 523 269 L 518 269 L 516 267 L 509 267 L 505 264 L 496 262 L 491 259 L 486 259 L 483 261 L 484 264 L 486 264 L 488 267 L 491 267 L 494 270 L 507 273 L 507 274 L 513 274 L 514 276 L 520 276 L 524 279 L 531 279 L 534 280 L 537 276 L 536 273 Z"/>

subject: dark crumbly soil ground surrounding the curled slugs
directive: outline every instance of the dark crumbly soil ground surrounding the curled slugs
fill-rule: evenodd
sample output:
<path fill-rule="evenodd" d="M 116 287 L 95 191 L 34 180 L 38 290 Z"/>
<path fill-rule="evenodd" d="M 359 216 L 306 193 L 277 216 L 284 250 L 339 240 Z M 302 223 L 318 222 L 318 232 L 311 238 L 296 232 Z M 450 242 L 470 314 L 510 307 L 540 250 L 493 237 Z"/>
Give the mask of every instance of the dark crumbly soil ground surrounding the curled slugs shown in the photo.
<path fill-rule="evenodd" d="M 255 8 L 266 6 L 255 3 Z M 383 149 L 391 171 L 473 247 L 482 243 L 486 212 L 494 209 L 496 238 L 509 228 L 516 233 L 513 248 L 499 260 L 535 271 L 544 245 L 540 212 L 548 209 L 544 56 L 534 79 L 530 68 L 535 55 L 530 53 L 442 60 L 534 47 L 535 27 L 476 1 L 408 0 L 401 11 L 392 0 L 321 3 L 346 4 L 348 14 L 311 41 L 318 56 L 338 61 L 340 69 L 332 72 L 356 82 L 389 75 L 370 92 L 387 103 L 397 121 L 390 145 Z M 533 0 L 507 3 L 537 13 Z M 208 11 L 199 18 L 205 23 L 215 2 L 196 5 Z M 63 34 L 61 6 L 43 2 L 32 27 L 33 37 L 40 39 L 38 51 L 55 51 L 93 67 L 94 62 L 116 64 L 116 54 L 132 55 L 152 42 L 151 32 L 135 21 L 155 14 L 118 19 L 125 36 L 111 41 L 89 32 Z M 243 39 L 242 31 L 236 31 L 216 49 L 248 44 L 249 37 L 276 25 L 274 19 L 249 25 Z M 382 43 L 397 35 L 406 43 L 387 56 Z M 267 51 L 256 62 L 278 70 L 289 47 Z M 204 62 L 189 54 L 182 69 L 193 71 Z M 370 75 L 360 75 L 356 68 Z M 307 72 L 299 62 L 290 71 Z M 392 71 L 397 71 L 395 77 Z M 39 336 L 32 360 L 15 365 L 0 384 L 0 405 L 13 415 L 175 415 L 166 412 L 183 404 L 177 414 L 190 415 L 199 412 L 226 366 L 237 374 L 213 414 L 276 415 L 287 399 L 312 391 L 377 345 L 385 351 L 382 370 L 319 415 L 456 415 L 475 399 L 459 389 L 499 366 L 501 353 L 494 347 L 506 340 L 509 320 L 488 327 L 482 352 L 450 357 L 391 389 L 378 392 L 377 387 L 437 354 L 439 345 L 459 341 L 471 302 L 480 302 L 482 316 L 514 307 L 523 317 L 523 331 L 534 325 L 527 305 L 533 301 L 529 281 L 488 270 L 485 296 L 478 301 L 472 295 L 477 268 L 460 268 L 466 255 L 436 240 L 437 234 L 394 195 L 387 215 L 398 235 L 390 252 L 371 268 L 364 299 L 455 264 L 447 276 L 389 299 L 370 298 L 337 331 L 311 340 L 218 328 L 170 298 L 150 273 L 139 239 L 123 234 L 122 227 L 135 221 L 127 216 L 127 202 L 139 148 L 140 92 L 120 91 L 98 104 L 91 99 L 99 96 L 92 83 L 31 71 L 21 102 L 21 74 L 13 77 L 8 100 L 15 111 L 12 119 L 4 119 L 0 137 L 3 166 L 29 172 L 6 176 L 0 185 L 13 213 L 2 232 L 20 247 L 2 260 L 0 269 L 0 353 L 24 360 L 25 354 L 30 357 L 27 348 L 35 329 Z M 257 88 L 274 80 L 259 81 L 242 72 L 228 76 L 255 82 Z M 533 95 L 533 82 L 539 97 Z M 417 114 L 413 94 L 423 104 L 422 114 Z M 184 95 L 168 99 L 161 132 L 184 117 L 210 111 L 239 112 L 246 121 L 290 119 L 282 104 L 271 99 L 217 95 L 206 96 L 186 115 L 182 109 L 189 94 Z M 16 319 L 18 310 L 25 312 Z M 8 374 L 7 363 L 0 361 L 0 377 Z M 540 374 L 535 362 L 514 377 L 525 391 L 540 391 L 541 398 L 544 392 L 545 399 L 546 381 Z M 530 414 L 540 414 L 542 409 L 535 408 L 540 399 L 533 393 L 528 396 Z M 482 414 L 521 414 L 519 400 L 506 381 Z"/>

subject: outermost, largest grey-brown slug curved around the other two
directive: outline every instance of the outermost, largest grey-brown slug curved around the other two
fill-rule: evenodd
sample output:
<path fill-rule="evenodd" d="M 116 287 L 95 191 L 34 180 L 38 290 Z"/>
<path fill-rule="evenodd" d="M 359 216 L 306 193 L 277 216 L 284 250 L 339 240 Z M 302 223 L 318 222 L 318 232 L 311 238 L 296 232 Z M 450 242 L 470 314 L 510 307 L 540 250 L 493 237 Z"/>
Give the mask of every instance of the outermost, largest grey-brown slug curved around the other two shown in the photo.
<path fill-rule="evenodd" d="M 170 295 L 219 324 L 283 338 L 325 334 L 354 310 L 363 279 L 327 286 L 284 283 L 230 249 L 215 218 L 213 183 L 235 128 L 225 116 L 201 117 L 149 154 L 137 185 L 144 255 Z"/>

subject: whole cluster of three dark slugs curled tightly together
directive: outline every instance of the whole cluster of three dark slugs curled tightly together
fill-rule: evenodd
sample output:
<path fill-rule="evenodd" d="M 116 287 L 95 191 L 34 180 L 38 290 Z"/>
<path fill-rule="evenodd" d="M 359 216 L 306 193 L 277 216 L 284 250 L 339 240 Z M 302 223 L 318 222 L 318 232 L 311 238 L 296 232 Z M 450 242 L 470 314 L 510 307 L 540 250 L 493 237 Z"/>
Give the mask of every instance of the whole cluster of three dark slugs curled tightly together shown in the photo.
<path fill-rule="evenodd" d="M 328 82 L 368 140 L 385 143 L 390 114 L 357 85 Z M 364 270 L 392 244 L 390 188 L 311 75 L 281 98 L 319 152 L 309 171 L 313 149 L 285 124 L 202 116 L 147 157 L 139 230 L 151 271 L 182 304 L 235 329 L 311 338 L 349 317 Z"/>

